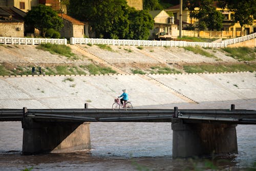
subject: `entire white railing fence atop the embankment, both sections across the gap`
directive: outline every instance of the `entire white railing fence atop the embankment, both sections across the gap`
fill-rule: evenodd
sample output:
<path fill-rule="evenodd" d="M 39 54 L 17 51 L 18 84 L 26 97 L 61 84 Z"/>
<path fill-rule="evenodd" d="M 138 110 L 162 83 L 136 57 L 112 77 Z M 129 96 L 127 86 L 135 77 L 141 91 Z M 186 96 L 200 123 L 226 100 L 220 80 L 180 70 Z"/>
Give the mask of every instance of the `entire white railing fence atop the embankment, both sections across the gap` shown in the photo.
<path fill-rule="evenodd" d="M 166 47 L 204 47 L 224 48 L 231 44 L 256 38 L 256 33 L 243 37 L 223 40 L 222 42 L 188 42 L 188 41 L 161 41 L 161 40 L 129 40 L 129 39 L 103 39 L 103 38 L 70 38 L 70 44 L 92 44 L 92 45 L 127 45 L 127 46 L 166 46 Z M 27 38 L 27 37 L 0 37 L 0 44 L 12 45 L 39 45 L 56 44 L 67 45 L 67 39 L 56 38 Z"/>

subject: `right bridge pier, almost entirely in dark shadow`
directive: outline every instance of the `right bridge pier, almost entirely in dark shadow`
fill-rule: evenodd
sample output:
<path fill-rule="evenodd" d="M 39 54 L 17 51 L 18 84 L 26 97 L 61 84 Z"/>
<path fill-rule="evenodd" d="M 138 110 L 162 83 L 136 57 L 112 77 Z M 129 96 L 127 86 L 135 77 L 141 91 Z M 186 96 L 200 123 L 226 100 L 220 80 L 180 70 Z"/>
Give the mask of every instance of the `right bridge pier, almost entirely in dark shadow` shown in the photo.
<path fill-rule="evenodd" d="M 172 123 L 173 158 L 238 153 L 236 124 Z"/>

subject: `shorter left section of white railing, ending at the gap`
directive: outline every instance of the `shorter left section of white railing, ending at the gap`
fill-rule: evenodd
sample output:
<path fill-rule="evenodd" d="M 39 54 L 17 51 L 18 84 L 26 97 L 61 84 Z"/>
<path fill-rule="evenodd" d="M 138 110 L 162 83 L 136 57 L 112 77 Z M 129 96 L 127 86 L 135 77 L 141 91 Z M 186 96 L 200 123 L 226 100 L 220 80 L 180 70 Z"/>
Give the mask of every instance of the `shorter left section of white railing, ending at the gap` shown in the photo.
<path fill-rule="evenodd" d="M 56 44 L 67 45 L 67 39 L 57 38 L 27 38 L 27 37 L 0 37 L 0 44 L 11 45 L 40 45 L 40 44 Z"/>

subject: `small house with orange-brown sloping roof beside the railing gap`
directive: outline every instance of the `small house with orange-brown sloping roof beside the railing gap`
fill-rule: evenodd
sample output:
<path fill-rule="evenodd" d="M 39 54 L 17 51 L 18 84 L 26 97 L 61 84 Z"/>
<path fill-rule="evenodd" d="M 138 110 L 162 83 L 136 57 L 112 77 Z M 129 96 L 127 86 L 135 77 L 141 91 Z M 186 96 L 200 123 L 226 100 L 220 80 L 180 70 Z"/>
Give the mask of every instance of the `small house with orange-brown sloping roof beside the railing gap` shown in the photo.
<path fill-rule="evenodd" d="M 60 30 L 61 37 L 84 37 L 84 23 L 67 14 L 58 14 L 62 17 L 64 27 Z"/>

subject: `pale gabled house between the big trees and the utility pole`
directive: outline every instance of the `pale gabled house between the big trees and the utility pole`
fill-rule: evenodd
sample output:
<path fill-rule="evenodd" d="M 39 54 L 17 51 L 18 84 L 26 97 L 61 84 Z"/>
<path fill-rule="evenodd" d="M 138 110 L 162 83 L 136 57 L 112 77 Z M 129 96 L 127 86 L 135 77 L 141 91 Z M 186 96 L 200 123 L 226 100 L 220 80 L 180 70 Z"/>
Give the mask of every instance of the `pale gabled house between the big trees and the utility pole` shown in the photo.
<path fill-rule="evenodd" d="M 150 31 L 150 39 L 168 40 L 178 37 L 178 26 L 174 24 L 173 17 L 170 17 L 164 10 L 150 11 L 154 19 L 154 29 Z"/>

